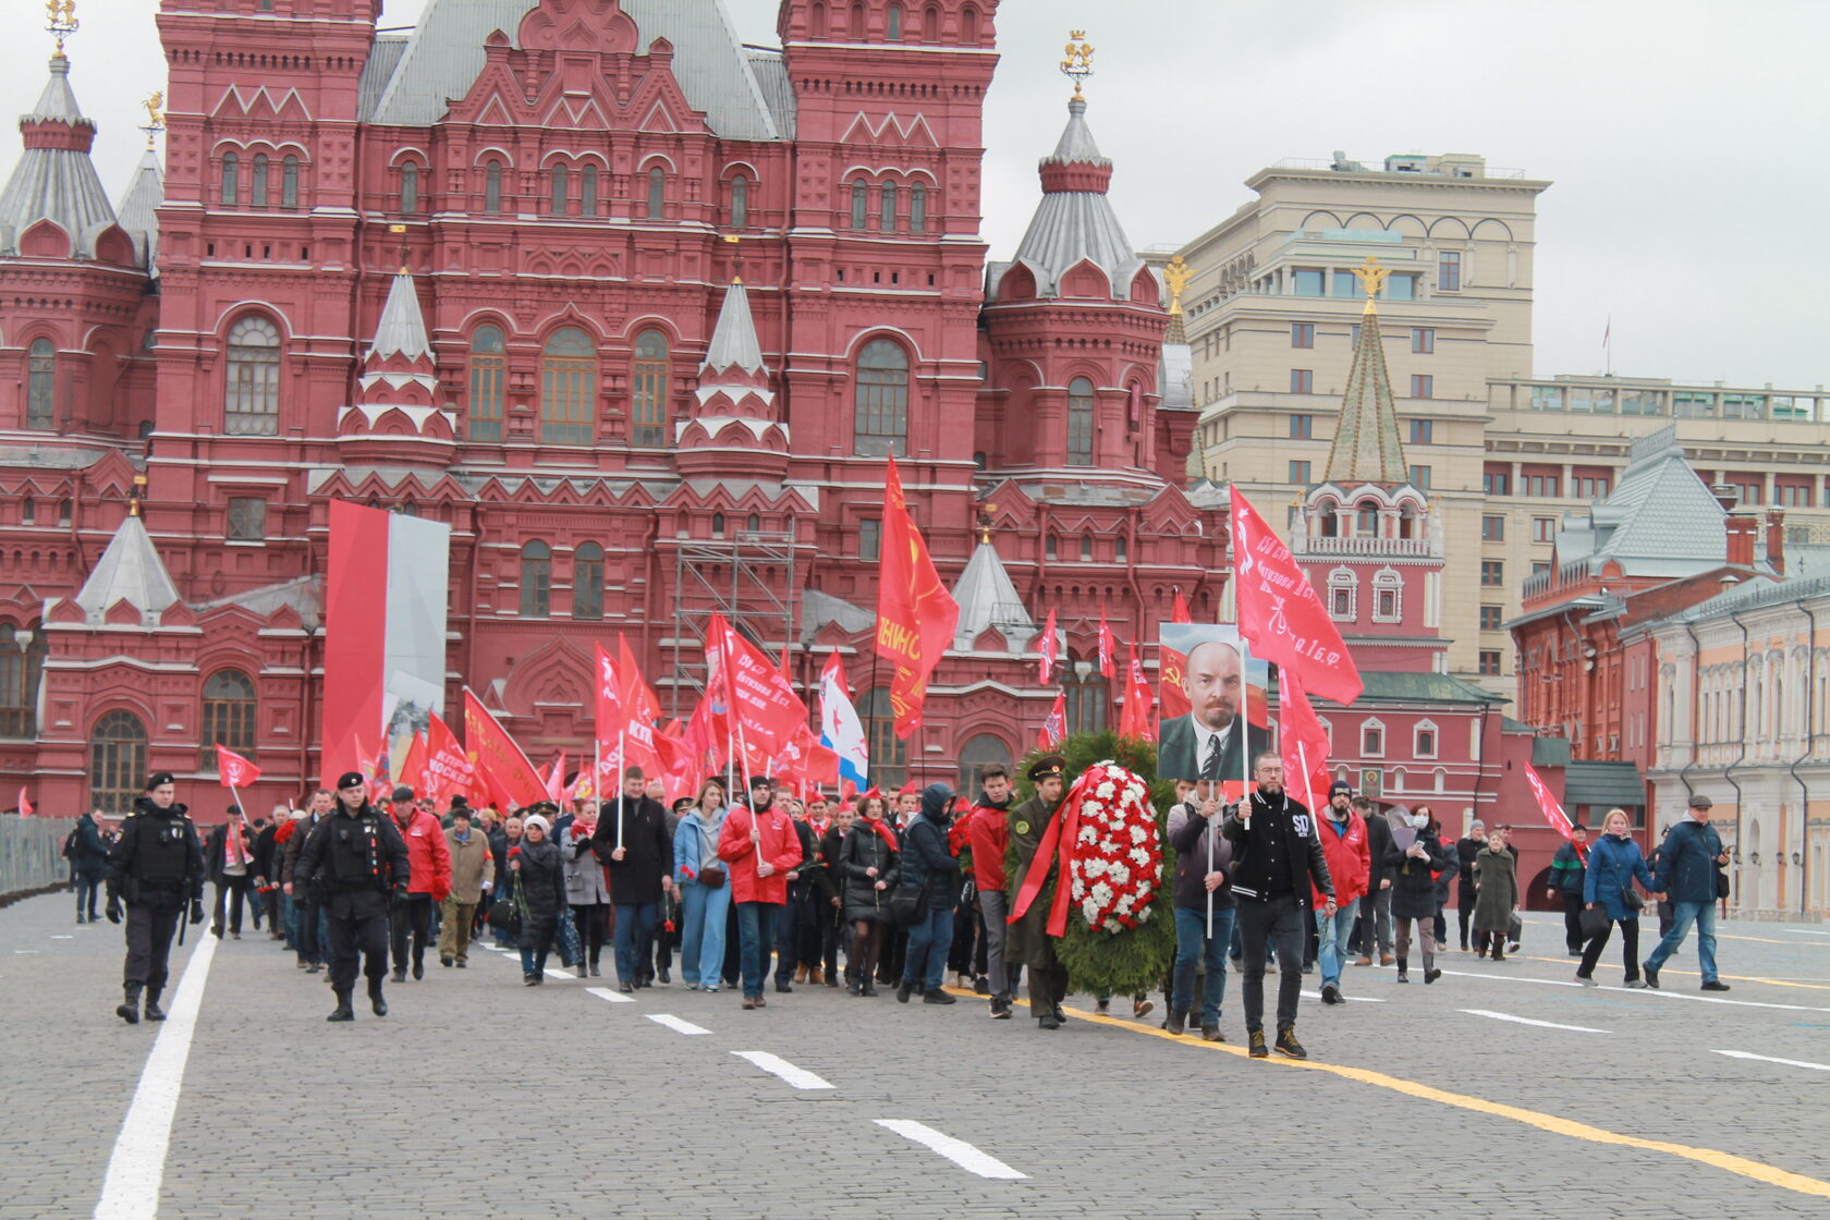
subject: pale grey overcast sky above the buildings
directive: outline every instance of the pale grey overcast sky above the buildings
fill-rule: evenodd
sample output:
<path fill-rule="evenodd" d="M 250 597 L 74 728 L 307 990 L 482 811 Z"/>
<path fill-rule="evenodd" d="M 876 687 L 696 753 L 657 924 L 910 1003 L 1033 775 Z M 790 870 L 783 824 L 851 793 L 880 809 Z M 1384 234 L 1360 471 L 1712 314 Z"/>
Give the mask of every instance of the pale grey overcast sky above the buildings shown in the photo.
<path fill-rule="evenodd" d="M 426 0 L 388 0 L 412 24 Z M 452 0 L 448 0 L 452 2 Z M 725 0 L 772 44 L 776 0 Z M 44 84 L 42 5 L 5 0 L 0 113 Z M 71 80 L 117 196 L 163 86 L 156 0 L 79 0 Z M 986 110 L 986 238 L 1008 258 L 1065 121 L 1069 24 L 1098 48 L 1089 123 L 1138 247 L 1179 245 L 1283 157 L 1475 152 L 1539 198 L 1537 375 L 1830 382 L 1825 0 L 1005 0 Z M 18 155 L 0 135 L 0 163 Z"/>

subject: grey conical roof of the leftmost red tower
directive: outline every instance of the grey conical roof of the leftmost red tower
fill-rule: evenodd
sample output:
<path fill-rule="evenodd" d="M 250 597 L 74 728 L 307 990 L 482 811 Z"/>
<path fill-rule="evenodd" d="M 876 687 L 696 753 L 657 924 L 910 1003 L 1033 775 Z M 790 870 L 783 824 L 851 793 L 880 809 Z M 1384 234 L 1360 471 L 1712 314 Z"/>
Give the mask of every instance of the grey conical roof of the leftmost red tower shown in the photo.
<path fill-rule="evenodd" d="M 70 236 L 71 254 L 92 256 L 115 214 L 90 161 L 95 124 L 70 88 L 70 57 L 51 57 L 51 79 L 18 130 L 26 152 L 0 190 L 0 252 L 16 252 L 20 234 L 49 219 Z"/>

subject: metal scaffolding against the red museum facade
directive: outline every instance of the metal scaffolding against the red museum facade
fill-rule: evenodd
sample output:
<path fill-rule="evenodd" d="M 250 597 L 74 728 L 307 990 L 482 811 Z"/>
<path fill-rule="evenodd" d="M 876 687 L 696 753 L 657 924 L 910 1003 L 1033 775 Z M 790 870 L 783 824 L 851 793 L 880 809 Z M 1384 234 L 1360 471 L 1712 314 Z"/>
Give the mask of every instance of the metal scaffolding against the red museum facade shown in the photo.
<path fill-rule="evenodd" d="M 705 633 L 712 615 L 723 615 L 770 657 L 791 649 L 796 644 L 794 589 L 794 530 L 743 529 L 728 538 L 681 538 L 673 551 L 668 713 L 690 713 L 705 693 Z"/>

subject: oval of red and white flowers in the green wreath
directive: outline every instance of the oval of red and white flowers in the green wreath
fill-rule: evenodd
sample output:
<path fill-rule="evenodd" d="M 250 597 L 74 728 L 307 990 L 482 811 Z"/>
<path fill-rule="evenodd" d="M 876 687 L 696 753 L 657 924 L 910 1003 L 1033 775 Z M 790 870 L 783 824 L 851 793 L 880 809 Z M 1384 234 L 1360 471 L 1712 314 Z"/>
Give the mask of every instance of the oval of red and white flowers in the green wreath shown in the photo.
<path fill-rule="evenodd" d="M 1162 889 L 1162 845 L 1149 785 L 1118 763 L 1098 763 L 1074 781 L 1071 896 L 1089 927 L 1118 933 L 1144 924 Z"/>

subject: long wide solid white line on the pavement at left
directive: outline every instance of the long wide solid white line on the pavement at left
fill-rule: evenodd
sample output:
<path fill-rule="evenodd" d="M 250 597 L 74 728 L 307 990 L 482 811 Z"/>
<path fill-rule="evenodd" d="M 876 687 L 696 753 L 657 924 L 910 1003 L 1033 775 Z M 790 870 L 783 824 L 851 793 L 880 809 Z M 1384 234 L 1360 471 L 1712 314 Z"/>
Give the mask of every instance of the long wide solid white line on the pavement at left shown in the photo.
<path fill-rule="evenodd" d="M 214 936 L 198 936 L 190 962 L 178 980 L 170 1015 L 159 1028 L 159 1037 L 146 1055 L 139 1074 L 139 1088 L 121 1123 L 113 1156 L 108 1158 L 108 1176 L 102 1182 L 95 1220 L 152 1220 L 159 1211 L 159 1183 L 165 1178 L 165 1152 L 172 1143 L 172 1116 L 178 1112 L 178 1094 L 185 1085 L 185 1063 L 190 1059 L 190 1039 L 198 1032 L 198 1010 L 203 1006 L 203 982 L 216 957 Z"/>

